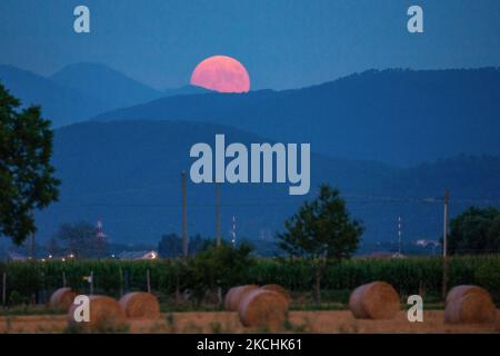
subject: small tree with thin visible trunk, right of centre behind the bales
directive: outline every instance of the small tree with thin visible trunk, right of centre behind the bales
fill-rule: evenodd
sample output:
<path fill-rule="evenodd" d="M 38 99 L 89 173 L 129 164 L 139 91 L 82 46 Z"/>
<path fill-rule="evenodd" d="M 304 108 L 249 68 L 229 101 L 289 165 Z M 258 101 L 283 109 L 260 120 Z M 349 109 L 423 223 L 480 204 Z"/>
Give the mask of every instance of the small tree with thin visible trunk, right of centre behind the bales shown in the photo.
<path fill-rule="evenodd" d="M 328 261 L 349 258 L 358 249 L 363 227 L 351 220 L 339 190 L 321 185 L 319 197 L 306 201 L 284 222 L 286 231 L 278 235 L 279 247 L 290 257 L 311 264 L 314 269 L 316 301 L 321 303 L 321 277 Z"/>

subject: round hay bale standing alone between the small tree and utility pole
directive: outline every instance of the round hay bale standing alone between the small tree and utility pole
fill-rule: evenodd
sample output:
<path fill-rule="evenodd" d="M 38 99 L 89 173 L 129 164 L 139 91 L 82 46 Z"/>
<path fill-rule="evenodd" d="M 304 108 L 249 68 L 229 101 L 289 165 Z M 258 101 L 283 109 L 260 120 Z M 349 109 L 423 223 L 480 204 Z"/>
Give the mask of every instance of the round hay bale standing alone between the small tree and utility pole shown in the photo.
<path fill-rule="evenodd" d="M 399 295 L 386 281 L 373 281 L 356 288 L 349 308 L 358 319 L 392 319 L 400 308 Z"/>

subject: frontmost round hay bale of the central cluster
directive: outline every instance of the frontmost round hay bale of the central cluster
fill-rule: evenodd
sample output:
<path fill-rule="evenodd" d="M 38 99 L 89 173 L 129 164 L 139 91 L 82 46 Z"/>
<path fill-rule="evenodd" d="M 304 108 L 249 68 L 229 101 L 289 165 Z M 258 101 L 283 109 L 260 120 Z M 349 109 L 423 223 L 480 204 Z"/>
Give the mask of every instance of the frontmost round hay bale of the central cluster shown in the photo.
<path fill-rule="evenodd" d="M 279 329 L 287 318 L 288 300 L 280 293 L 253 289 L 241 300 L 238 314 L 246 327 Z"/>

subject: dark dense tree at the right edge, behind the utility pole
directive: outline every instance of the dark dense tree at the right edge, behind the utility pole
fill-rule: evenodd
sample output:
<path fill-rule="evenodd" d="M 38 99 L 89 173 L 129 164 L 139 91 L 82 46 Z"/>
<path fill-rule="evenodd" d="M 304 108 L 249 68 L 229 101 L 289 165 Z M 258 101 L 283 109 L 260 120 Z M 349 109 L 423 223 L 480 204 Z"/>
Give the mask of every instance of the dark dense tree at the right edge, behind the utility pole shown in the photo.
<path fill-rule="evenodd" d="M 494 254 L 500 251 L 500 211 L 470 207 L 450 221 L 450 254 Z"/>

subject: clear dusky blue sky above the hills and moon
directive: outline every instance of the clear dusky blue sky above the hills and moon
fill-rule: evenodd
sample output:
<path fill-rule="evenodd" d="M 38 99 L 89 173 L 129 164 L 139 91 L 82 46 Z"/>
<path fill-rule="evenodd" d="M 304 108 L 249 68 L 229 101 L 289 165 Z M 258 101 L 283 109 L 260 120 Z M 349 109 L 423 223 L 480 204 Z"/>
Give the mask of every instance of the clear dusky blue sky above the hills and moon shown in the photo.
<path fill-rule="evenodd" d="M 91 32 L 73 31 L 90 9 Z M 409 33 L 407 9 L 423 8 Z M 158 89 L 226 55 L 252 89 L 300 88 L 367 69 L 500 66 L 498 0 L 1 0 L 0 63 L 50 76 L 101 62 Z"/>

